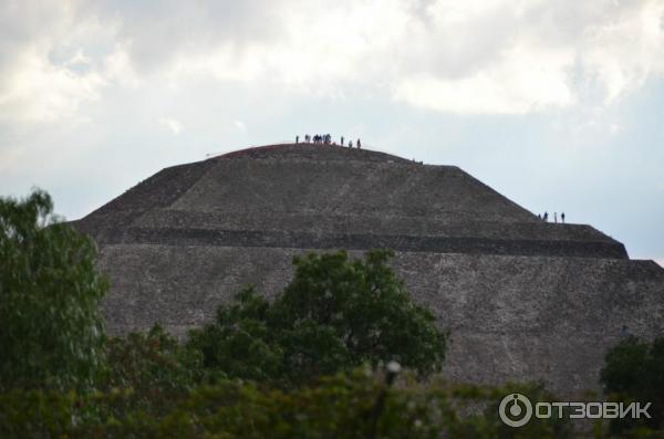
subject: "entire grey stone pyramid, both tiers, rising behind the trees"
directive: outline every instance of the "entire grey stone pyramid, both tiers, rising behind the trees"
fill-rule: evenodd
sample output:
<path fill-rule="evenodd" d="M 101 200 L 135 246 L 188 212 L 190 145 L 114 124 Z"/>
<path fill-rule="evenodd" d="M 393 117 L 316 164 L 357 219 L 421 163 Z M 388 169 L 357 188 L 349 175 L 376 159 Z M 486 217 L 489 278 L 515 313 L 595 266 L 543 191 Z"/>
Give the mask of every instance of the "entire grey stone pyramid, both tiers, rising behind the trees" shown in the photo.
<path fill-rule="evenodd" d="M 585 224 L 541 221 L 454 166 L 270 145 L 174 166 L 73 224 L 111 279 L 110 332 L 183 335 L 245 284 L 271 296 L 307 251 L 392 248 L 450 341 L 445 373 L 596 388 L 621 328 L 664 334 L 664 270 Z"/>

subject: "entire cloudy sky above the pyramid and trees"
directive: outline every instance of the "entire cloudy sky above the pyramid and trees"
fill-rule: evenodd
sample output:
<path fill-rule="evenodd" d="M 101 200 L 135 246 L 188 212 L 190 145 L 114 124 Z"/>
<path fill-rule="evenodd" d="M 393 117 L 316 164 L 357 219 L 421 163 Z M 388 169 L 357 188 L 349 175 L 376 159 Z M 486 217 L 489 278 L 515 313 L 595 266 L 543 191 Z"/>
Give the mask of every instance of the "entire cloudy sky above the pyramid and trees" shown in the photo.
<path fill-rule="evenodd" d="M 0 2 L 2 196 L 325 132 L 664 263 L 664 0 Z"/>

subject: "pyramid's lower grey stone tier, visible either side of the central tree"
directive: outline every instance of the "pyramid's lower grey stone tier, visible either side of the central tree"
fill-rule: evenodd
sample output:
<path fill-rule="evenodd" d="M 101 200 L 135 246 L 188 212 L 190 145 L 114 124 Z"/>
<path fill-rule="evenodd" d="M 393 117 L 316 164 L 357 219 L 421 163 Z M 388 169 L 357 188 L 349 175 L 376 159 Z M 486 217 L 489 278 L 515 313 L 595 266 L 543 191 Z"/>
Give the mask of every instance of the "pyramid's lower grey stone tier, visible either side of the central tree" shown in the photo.
<path fill-rule="evenodd" d="M 242 285 L 272 296 L 291 278 L 292 257 L 304 251 L 107 245 L 101 266 L 115 281 L 105 302 L 108 328 L 159 322 L 183 335 Z M 596 389 L 605 349 L 623 325 L 664 335 L 664 270 L 653 262 L 397 252 L 394 266 L 450 331 L 445 374 L 454 379 L 542 379 L 575 395 Z"/>

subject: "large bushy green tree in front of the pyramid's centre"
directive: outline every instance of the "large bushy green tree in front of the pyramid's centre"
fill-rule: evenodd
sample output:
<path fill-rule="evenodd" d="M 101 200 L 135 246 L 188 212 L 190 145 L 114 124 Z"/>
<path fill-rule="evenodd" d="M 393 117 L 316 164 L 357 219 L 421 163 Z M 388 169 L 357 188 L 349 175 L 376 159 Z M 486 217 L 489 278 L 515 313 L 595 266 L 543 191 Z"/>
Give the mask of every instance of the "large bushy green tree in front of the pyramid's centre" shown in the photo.
<path fill-rule="evenodd" d="M 294 278 L 273 302 L 241 291 L 190 334 L 190 345 L 206 367 L 229 377 L 283 384 L 392 359 L 422 375 L 439 370 L 445 335 L 411 300 L 390 257 L 374 250 L 364 260 L 343 251 L 295 258 Z"/>

